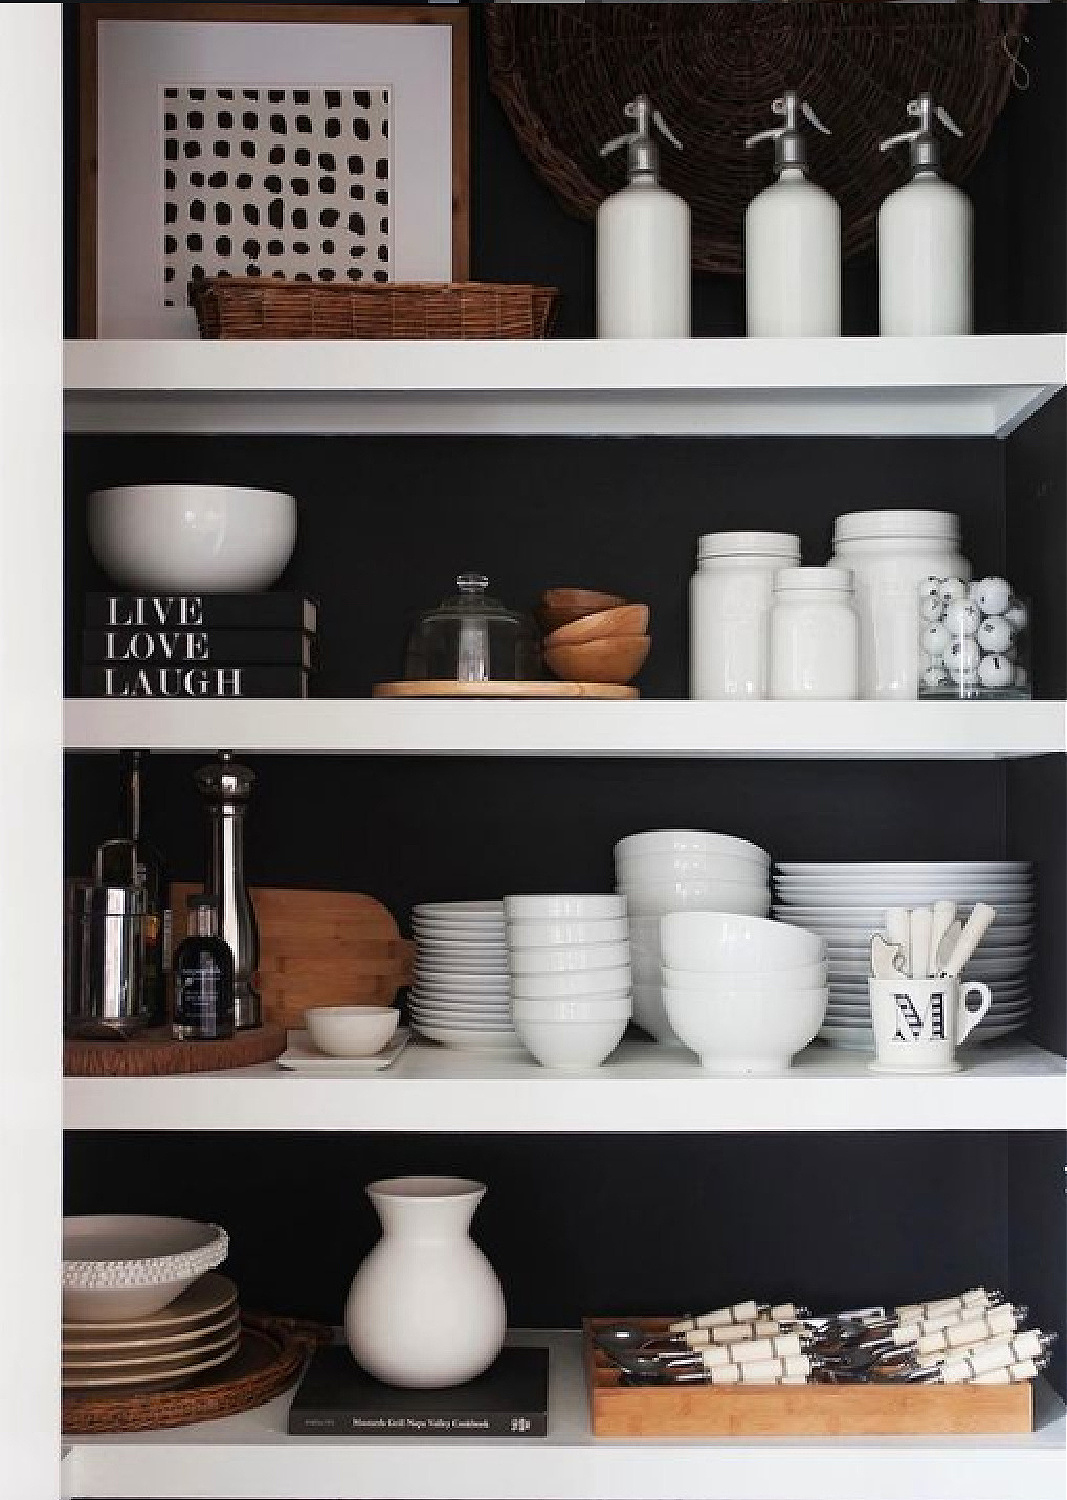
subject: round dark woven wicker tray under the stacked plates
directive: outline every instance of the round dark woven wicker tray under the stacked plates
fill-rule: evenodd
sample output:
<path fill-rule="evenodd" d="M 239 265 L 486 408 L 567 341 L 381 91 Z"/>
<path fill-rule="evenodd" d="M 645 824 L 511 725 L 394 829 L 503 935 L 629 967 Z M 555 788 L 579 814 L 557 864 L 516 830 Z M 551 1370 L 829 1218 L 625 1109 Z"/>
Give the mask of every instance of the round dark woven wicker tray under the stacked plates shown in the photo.
<path fill-rule="evenodd" d="M 81 1436 L 146 1432 L 251 1412 L 287 1390 L 311 1352 L 318 1344 L 329 1344 L 330 1336 L 330 1329 L 321 1323 L 245 1312 L 240 1348 L 225 1365 L 177 1390 L 66 1392 L 63 1431 Z"/>

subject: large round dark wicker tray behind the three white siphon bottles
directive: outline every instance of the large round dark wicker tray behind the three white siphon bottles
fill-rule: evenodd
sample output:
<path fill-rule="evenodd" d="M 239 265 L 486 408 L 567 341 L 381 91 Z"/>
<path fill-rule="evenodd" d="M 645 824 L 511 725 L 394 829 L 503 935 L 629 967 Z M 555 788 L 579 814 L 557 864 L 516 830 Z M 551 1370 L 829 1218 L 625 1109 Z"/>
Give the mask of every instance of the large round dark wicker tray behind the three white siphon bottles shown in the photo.
<path fill-rule="evenodd" d="M 878 206 L 906 178 L 908 153 L 878 141 L 909 128 L 929 90 L 963 128 L 944 136 L 959 182 L 1004 106 L 1025 4 L 488 4 L 489 78 L 537 176 L 588 219 L 621 188 L 626 153 L 599 147 L 627 129 L 623 106 L 648 93 L 681 138 L 662 177 L 693 213 L 693 266 L 741 272 L 744 208 L 771 180 L 773 150 L 744 138 L 776 123 L 770 104 L 797 88 L 833 132 L 810 132 L 813 178 L 840 202 L 843 250 L 875 232 Z"/>

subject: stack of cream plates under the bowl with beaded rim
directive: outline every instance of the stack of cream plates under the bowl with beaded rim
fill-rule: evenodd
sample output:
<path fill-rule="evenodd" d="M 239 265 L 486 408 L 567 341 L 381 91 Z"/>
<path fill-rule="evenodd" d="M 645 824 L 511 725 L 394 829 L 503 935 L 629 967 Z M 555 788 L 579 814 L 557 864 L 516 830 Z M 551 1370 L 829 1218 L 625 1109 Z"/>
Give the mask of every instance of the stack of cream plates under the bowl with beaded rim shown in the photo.
<path fill-rule="evenodd" d="M 237 1287 L 209 1272 L 159 1312 L 125 1322 L 63 1320 L 63 1389 L 167 1390 L 225 1365 L 240 1344 Z"/>

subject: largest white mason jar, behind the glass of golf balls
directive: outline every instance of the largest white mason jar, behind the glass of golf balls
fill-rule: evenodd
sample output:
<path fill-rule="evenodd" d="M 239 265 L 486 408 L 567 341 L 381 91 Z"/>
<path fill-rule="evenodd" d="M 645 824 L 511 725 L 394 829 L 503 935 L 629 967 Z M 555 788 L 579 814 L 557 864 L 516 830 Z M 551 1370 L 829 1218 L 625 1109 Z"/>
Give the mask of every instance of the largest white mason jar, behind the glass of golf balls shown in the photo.
<path fill-rule="evenodd" d="M 837 516 L 834 562 L 852 570 L 860 616 L 860 696 L 918 696 L 918 614 L 924 578 L 960 578 L 959 516 L 945 510 L 864 510 Z"/>

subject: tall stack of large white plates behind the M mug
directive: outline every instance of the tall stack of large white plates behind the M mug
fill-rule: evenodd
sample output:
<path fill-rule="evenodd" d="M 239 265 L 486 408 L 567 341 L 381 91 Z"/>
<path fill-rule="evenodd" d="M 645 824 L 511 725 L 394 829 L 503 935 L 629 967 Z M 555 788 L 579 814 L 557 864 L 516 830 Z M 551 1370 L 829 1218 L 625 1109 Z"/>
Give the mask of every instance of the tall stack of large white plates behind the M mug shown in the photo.
<path fill-rule="evenodd" d="M 1028 966 L 1034 952 L 1034 878 L 1022 860 L 914 864 L 779 864 L 774 915 L 827 940 L 830 1005 L 819 1036 L 837 1047 L 873 1048 L 867 978 L 870 936 L 885 932 L 890 906 L 954 902 L 966 920 L 975 902 L 996 908 L 996 921 L 963 969 L 993 994 L 989 1014 L 969 1040 L 996 1041 L 1029 1017 Z"/>

